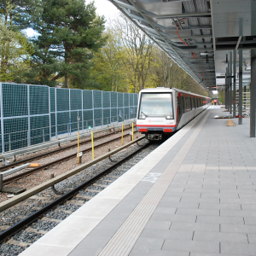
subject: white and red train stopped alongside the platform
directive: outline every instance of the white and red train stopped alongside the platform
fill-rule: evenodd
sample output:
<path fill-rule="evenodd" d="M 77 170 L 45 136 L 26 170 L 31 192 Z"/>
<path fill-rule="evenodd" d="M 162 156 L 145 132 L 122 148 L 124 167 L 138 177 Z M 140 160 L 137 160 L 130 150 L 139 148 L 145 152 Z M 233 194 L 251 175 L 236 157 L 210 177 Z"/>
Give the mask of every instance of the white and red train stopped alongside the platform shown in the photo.
<path fill-rule="evenodd" d="M 143 89 L 139 92 L 136 129 L 148 141 L 164 141 L 211 103 L 210 97 L 175 88 Z"/>

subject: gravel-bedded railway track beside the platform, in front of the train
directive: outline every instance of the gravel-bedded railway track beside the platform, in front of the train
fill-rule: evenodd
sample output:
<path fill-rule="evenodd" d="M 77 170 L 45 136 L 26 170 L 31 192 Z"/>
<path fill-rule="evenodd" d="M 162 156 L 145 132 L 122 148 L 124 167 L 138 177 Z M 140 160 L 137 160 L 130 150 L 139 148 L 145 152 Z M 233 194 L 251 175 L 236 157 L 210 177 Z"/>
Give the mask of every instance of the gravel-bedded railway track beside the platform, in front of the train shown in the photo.
<path fill-rule="evenodd" d="M 116 155 L 115 162 L 105 159 L 99 162 L 98 166 L 92 165 L 83 172 L 79 172 L 78 176 L 70 177 L 58 183 L 57 189 L 65 190 L 65 193 L 60 197 L 55 198 L 50 189 L 45 189 L 37 195 L 32 195 L 27 201 L 23 201 L 21 212 L 23 212 L 23 208 L 27 208 L 29 205 L 32 213 L 26 216 L 16 215 L 14 218 L 22 219 L 11 226 L 9 226 L 12 223 L 10 219 L 5 221 L 6 229 L 0 233 L 0 241 L 4 241 L 0 246 L 0 255 L 2 255 L 1 253 L 5 253 L 3 255 L 17 255 L 22 252 L 67 218 L 68 215 L 84 205 L 86 201 L 108 187 L 156 147 L 157 145 L 146 143 L 144 140 L 142 146 L 130 147 L 125 153 L 122 151 Z M 5 210 L 5 215 L 12 214 L 11 216 L 13 216 L 14 212 L 17 213 L 15 208 Z M 18 212 L 20 213 L 20 211 Z M 0 218 L 3 218 L 3 215 L 1 212 Z M 15 221 L 13 220 L 13 222 Z"/>

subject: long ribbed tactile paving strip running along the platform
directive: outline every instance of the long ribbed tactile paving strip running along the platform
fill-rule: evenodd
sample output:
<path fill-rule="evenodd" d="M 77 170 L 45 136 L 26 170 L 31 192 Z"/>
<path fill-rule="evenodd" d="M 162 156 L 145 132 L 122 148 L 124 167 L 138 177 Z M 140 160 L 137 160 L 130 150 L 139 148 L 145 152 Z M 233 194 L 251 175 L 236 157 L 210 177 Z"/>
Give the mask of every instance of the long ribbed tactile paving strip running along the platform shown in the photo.
<path fill-rule="evenodd" d="M 108 244 L 102 249 L 100 256 L 126 256 L 131 252 L 137 239 L 143 232 L 149 218 L 154 213 L 155 208 L 158 206 L 162 196 L 166 193 L 166 189 L 172 182 L 173 177 L 183 163 L 185 156 L 188 154 L 189 149 L 195 142 L 195 138 L 201 131 L 202 126 L 205 124 L 209 114 L 201 120 L 201 124 L 197 126 L 195 131 L 189 137 L 188 141 L 179 150 L 172 162 L 166 167 L 166 170 L 161 174 L 159 179 L 154 183 L 153 187 L 149 189 L 147 195 L 137 205 L 131 215 L 125 220 L 125 223 L 114 234 Z"/>

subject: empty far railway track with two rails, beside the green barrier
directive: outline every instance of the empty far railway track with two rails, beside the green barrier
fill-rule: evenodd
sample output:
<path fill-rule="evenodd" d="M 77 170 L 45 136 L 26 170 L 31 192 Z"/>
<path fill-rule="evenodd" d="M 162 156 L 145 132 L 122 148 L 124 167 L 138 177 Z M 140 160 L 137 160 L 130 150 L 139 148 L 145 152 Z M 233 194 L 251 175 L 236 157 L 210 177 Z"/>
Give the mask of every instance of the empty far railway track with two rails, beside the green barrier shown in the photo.
<path fill-rule="evenodd" d="M 128 128 L 128 129 L 129 129 L 129 128 Z M 97 137 L 97 139 L 103 138 L 103 137 L 109 137 L 111 134 L 113 134 L 113 133 L 110 133 L 110 134 L 108 133 L 108 135 L 104 135 L 104 136 L 102 136 L 102 137 Z M 124 134 L 124 137 L 128 137 L 128 136 L 130 136 L 130 133 Z M 95 145 L 94 148 L 101 148 L 102 146 L 107 145 L 108 143 L 113 143 L 113 142 L 119 140 L 120 138 L 121 138 L 121 136 L 115 137 L 115 138 L 113 138 L 113 139 L 108 140 L 107 142 L 104 142 L 104 143 L 100 143 L 100 144 L 98 144 L 98 145 Z M 87 140 L 87 141 L 84 142 L 84 143 L 90 143 L 90 140 Z M 80 145 L 81 145 L 81 143 L 80 143 Z M 21 161 L 16 162 L 16 163 L 14 163 L 14 164 L 12 164 L 12 165 L 13 165 L 13 166 L 18 166 L 18 165 L 20 165 L 20 164 L 24 164 L 24 163 L 30 162 L 31 160 L 39 159 L 40 157 L 43 158 L 43 157 L 45 157 L 45 156 L 47 156 L 47 155 L 57 154 L 57 153 L 59 153 L 59 152 L 61 152 L 61 151 L 63 151 L 63 150 L 67 150 L 67 149 L 73 148 L 73 147 L 75 147 L 75 146 L 77 146 L 77 144 L 69 145 L 69 146 L 67 146 L 67 147 L 65 147 L 65 148 L 59 148 L 59 149 L 56 149 L 56 150 L 54 150 L 54 151 L 52 151 L 52 152 L 48 152 L 48 153 L 46 153 L 46 154 L 41 154 L 41 155 L 38 155 L 38 156 L 35 156 L 35 157 L 32 157 L 32 158 L 26 159 L 26 160 L 21 160 Z M 89 152 L 91 149 L 92 149 L 92 148 L 90 147 L 90 148 L 85 148 L 84 150 L 80 150 L 80 151 L 83 152 L 83 154 L 84 154 L 84 153 L 86 153 L 86 152 Z M 29 169 L 29 170 L 27 170 L 27 171 L 26 171 L 26 169 L 23 169 L 24 172 L 21 172 L 21 173 L 19 173 L 19 174 L 16 174 L 16 175 L 14 175 L 14 176 L 12 176 L 12 177 L 7 177 L 7 178 L 5 178 L 5 179 L 3 180 L 3 184 L 6 185 L 6 184 L 8 184 L 8 183 L 14 182 L 14 181 L 16 181 L 16 180 L 18 180 L 18 179 L 20 179 L 20 178 L 22 178 L 22 177 L 26 177 L 26 176 L 28 176 L 28 175 L 31 175 L 32 173 L 35 173 L 35 172 L 38 172 L 38 171 L 47 169 L 47 168 L 49 168 L 49 166 L 54 166 L 54 165 L 56 165 L 56 164 L 58 164 L 58 163 L 60 163 L 60 162 L 62 162 L 62 161 L 66 161 L 66 160 L 69 160 L 69 159 L 72 159 L 72 158 L 75 158 L 75 157 L 77 157 L 77 153 L 69 154 L 69 155 L 67 155 L 67 156 L 65 156 L 65 157 L 62 157 L 62 158 L 60 158 L 60 159 L 51 161 L 51 162 L 49 162 L 49 163 L 47 163 L 47 164 L 44 164 L 44 165 L 42 165 L 42 166 L 38 166 L 38 167 L 35 167 L 35 168 L 33 168 L 33 169 Z M 7 170 L 7 167 L 10 167 L 10 166 L 11 166 L 11 165 L 9 165 L 9 166 L 4 166 L 4 169 L 1 169 L 1 168 L 0 168 L 0 172 L 3 172 L 3 170 Z"/>

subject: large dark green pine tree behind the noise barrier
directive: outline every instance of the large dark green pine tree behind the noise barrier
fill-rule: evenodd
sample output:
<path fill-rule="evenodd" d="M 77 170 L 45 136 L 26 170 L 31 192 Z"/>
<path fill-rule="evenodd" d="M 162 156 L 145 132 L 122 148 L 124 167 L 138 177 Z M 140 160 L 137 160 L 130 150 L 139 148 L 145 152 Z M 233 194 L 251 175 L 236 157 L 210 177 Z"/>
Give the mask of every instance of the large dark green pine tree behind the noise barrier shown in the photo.
<path fill-rule="evenodd" d="M 93 53 L 106 41 L 103 17 L 96 17 L 94 3 L 83 0 L 44 0 L 40 6 L 32 26 L 38 37 L 32 39 L 31 77 L 49 85 L 64 77 L 64 87 L 84 88 L 90 83 Z"/>

